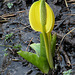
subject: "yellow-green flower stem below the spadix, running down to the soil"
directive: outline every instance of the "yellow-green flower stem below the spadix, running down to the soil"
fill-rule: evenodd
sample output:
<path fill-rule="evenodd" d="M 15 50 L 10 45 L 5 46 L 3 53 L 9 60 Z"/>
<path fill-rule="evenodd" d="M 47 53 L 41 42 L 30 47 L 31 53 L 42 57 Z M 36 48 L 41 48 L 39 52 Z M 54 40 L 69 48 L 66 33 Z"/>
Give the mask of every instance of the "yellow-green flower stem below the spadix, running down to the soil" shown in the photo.
<path fill-rule="evenodd" d="M 46 31 L 45 31 L 45 26 L 43 26 L 43 25 L 42 25 L 42 34 L 44 37 L 47 60 L 48 60 L 50 68 L 53 69 L 54 66 L 53 66 L 53 58 L 52 58 L 52 54 L 51 54 L 51 49 L 49 48 L 50 46 L 48 43 L 48 37 L 47 37 Z"/>

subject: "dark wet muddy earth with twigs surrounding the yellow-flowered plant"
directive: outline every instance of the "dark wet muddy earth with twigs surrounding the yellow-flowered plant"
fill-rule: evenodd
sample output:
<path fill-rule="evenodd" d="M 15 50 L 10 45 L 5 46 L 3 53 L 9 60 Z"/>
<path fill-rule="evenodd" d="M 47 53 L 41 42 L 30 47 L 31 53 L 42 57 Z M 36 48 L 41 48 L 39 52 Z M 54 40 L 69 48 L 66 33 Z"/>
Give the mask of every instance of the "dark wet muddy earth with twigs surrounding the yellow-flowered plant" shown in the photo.
<path fill-rule="evenodd" d="M 45 75 L 17 54 L 34 52 L 30 44 L 40 42 L 39 34 L 29 23 L 29 9 L 36 0 L 0 0 L 0 75 Z M 75 75 L 75 4 L 68 0 L 46 0 L 55 14 L 57 34 L 54 75 L 72 70 Z M 9 7 L 7 4 L 12 3 Z M 17 48 L 16 48 L 16 47 Z M 68 74 L 65 74 L 68 75 Z"/>

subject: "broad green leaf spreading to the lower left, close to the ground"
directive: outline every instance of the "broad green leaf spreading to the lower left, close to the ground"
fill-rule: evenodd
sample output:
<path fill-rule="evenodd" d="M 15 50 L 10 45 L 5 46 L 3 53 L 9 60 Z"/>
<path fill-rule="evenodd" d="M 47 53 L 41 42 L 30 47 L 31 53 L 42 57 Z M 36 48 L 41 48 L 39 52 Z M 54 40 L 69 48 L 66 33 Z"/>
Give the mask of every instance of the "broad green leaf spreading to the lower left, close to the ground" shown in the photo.
<path fill-rule="evenodd" d="M 44 57 L 39 57 L 37 54 L 27 52 L 27 51 L 19 51 L 17 52 L 20 56 L 22 56 L 24 59 L 38 67 L 43 73 L 48 73 L 49 71 L 49 65 Z"/>

